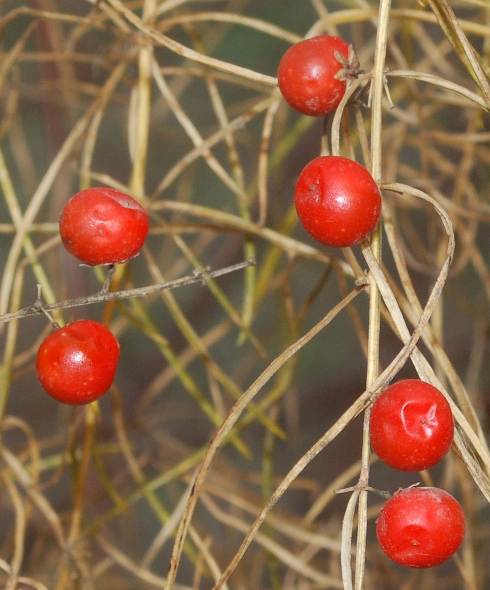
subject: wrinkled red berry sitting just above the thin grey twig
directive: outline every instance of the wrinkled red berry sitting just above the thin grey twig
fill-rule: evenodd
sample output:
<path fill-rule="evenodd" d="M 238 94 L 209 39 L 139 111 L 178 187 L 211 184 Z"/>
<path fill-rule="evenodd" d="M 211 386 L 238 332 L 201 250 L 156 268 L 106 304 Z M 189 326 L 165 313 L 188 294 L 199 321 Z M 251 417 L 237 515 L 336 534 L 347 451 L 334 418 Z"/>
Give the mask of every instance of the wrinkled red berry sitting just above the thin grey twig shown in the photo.
<path fill-rule="evenodd" d="M 84 264 L 128 260 L 142 248 L 149 229 L 144 208 L 129 195 L 107 187 L 78 192 L 60 216 L 61 241 Z"/>

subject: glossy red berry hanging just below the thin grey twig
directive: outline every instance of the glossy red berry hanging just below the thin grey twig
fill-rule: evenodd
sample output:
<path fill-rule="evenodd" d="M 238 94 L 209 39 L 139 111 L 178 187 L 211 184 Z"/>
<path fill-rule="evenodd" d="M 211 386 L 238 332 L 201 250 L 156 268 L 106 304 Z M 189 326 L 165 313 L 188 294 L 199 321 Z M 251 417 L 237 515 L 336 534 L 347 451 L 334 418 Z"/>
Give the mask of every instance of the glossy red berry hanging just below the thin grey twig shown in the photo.
<path fill-rule="evenodd" d="M 78 320 L 58 328 L 42 342 L 37 376 L 52 398 L 64 404 L 88 404 L 112 385 L 119 352 L 119 342 L 106 326 Z"/>

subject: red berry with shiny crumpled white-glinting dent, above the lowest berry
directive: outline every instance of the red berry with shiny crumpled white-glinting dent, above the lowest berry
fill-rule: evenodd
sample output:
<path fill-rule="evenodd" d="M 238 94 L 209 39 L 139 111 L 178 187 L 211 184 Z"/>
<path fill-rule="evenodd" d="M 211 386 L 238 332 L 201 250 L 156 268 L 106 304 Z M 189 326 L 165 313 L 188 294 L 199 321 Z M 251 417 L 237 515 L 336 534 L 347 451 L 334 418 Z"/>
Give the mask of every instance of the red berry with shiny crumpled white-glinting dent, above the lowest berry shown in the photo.
<path fill-rule="evenodd" d="M 374 402 L 369 435 L 371 447 L 384 463 L 401 471 L 420 471 L 448 453 L 453 415 L 439 389 L 418 379 L 404 379 Z"/>

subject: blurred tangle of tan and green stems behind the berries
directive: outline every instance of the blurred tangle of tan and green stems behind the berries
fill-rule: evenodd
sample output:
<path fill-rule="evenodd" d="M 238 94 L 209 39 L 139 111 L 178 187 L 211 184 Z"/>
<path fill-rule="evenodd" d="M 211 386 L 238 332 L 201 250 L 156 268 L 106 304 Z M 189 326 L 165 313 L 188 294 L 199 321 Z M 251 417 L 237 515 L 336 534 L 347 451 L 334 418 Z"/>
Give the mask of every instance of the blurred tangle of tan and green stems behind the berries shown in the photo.
<path fill-rule="evenodd" d="M 419 349 L 468 420 L 458 424 L 466 444 L 473 444 L 472 428 L 485 450 L 490 9 L 486 0 L 450 4 L 454 15 L 442 0 L 392 3 L 382 180 L 426 191 L 452 221 L 455 256 Z M 58 237 L 64 203 L 90 185 L 128 192 L 152 219 L 142 254 L 119 268 L 114 290 L 256 261 L 206 285 L 56 317 L 101 321 L 121 343 L 113 389 L 86 408 L 57 404 L 35 378 L 47 319 L 3 324 L 2 586 L 166 587 L 186 494 L 216 428 L 367 270 L 360 247 L 319 247 L 298 224 L 295 181 L 330 143 L 331 120 L 292 112 L 274 77 L 293 42 L 322 32 L 351 42 L 370 71 L 380 5 L 0 1 L 0 314 L 34 303 L 37 284 L 47 303 L 100 288 L 100 269 L 78 266 Z M 341 152 L 369 168 L 367 95 L 344 110 Z M 383 234 L 384 276 L 412 329 L 418 308 L 396 257 L 406 261 L 423 307 L 448 240 L 430 203 L 408 193 L 383 197 L 384 221 L 396 237 Z M 275 487 L 366 389 L 366 291 L 272 371 L 254 409 L 238 417 L 206 472 L 176 588 L 216 587 Z M 380 369 L 402 348 L 392 310 L 382 308 Z M 416 375 L 408 362 L 397 377 Z M 228 588 L 344 587 L 347 494 L 333 490 L 356 484 L 362 435 L 357 417 L 307 462 L 235 564 Z M 406 571 L 377 547 L 382 500 L 370 494 L 364 589 L 488 588 L 490 460 L 473 447 L 469 453 L 476 483 L 468 459 L 455 451 L 430 474 L 401 474 L 373 458 L 373 488 L 393 493 L 417 481 L 445 487 L 462 502 L 469 525 L 457 559 L 434 571 Z"/>

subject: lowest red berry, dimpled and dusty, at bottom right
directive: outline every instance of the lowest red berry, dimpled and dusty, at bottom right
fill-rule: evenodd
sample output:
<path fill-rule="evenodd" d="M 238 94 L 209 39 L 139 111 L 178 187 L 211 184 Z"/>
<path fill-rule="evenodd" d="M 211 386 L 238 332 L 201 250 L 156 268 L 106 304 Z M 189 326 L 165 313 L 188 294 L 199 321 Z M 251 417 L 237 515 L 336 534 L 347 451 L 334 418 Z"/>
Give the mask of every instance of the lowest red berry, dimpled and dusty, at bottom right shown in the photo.
<path fill-rule="evenodd" d="M 465 537 L 463 510 L 437 487 L 410 487 L 384 504 L 376 535 L 384 553 L 408 568 L 432 568 L 449 559 Z"/>

